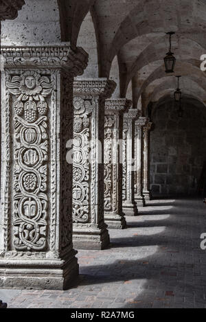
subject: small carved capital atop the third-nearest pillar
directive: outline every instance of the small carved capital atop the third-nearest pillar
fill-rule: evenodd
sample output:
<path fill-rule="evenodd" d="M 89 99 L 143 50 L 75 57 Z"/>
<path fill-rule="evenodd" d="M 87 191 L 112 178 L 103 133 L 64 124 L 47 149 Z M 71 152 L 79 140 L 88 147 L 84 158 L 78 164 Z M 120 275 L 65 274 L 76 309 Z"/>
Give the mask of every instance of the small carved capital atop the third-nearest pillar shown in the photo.
<path fill-rule="evenodd" d="M 105 113 L 125 113 L 131 101 L 126 98 L 108 99 L 105 101 Z"/>

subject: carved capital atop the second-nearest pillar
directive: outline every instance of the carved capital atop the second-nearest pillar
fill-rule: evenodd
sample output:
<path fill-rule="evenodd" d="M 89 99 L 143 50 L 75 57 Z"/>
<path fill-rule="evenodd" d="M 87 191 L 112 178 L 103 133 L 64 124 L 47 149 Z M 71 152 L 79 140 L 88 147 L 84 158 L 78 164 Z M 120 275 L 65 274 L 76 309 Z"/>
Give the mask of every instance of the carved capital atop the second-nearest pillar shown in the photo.
<path fill-rule="evenodd" d="M 117 84 L 108 78 L 78 79 L 73 82 L 73 95 L 100 96 L 106 100 L 111 97 Z"/>

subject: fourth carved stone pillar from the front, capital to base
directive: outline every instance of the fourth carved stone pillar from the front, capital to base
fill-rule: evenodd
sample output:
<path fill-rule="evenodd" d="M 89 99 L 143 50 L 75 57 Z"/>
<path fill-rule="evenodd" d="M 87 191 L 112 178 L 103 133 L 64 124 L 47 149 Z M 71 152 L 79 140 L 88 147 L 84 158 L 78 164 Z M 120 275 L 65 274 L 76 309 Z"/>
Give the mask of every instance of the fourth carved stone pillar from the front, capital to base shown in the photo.
<path fill-rule="evenodd" d="M 138 117 L 137 109 L 130 109 L 124 115 L 123 126 L 123 182 L 122 182 L 122 206 L 126 216 L 137 216 L 137 204 L 135 203 L 135 119 Z"/>

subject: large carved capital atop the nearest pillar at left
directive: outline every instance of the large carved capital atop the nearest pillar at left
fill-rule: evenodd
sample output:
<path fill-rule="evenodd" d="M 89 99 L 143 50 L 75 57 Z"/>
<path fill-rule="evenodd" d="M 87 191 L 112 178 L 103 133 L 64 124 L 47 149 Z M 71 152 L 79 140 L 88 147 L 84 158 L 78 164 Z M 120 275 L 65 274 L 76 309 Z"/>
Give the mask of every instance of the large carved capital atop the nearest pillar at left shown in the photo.
<path fill-rule="evenodd" d="M 70 43 L 48 46 L 1 47 L 5 68 L 62 68 L 73 77 L 82 75 L 88 54 Z"/>

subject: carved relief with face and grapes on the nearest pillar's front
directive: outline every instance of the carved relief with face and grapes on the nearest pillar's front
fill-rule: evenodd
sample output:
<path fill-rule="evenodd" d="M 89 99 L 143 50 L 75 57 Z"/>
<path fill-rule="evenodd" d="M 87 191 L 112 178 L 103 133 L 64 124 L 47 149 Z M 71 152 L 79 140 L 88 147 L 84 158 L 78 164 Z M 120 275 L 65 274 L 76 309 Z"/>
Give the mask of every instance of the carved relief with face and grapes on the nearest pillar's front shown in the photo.
<path fill-rule="evenodd" d="M 25 71 L 9 76 L 14 111 L 14 239 L 16 250 L 43 250 L 47 227 L 47 111 L 53 84 L 48 76 Z"/>

